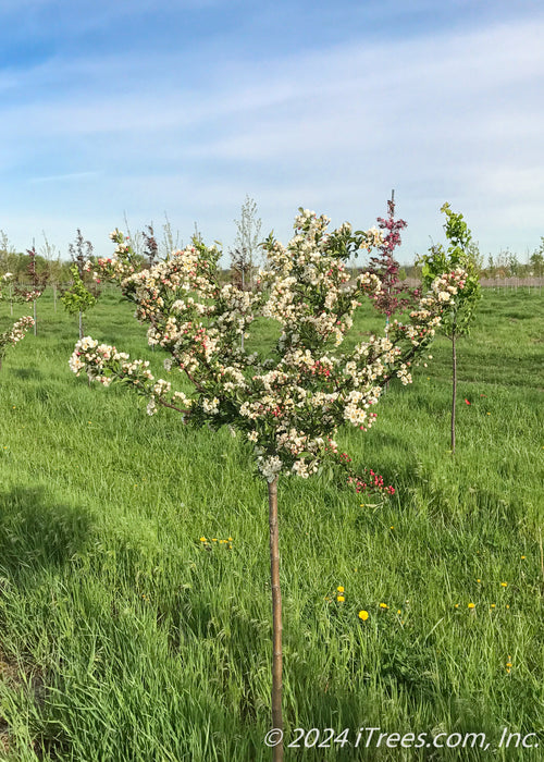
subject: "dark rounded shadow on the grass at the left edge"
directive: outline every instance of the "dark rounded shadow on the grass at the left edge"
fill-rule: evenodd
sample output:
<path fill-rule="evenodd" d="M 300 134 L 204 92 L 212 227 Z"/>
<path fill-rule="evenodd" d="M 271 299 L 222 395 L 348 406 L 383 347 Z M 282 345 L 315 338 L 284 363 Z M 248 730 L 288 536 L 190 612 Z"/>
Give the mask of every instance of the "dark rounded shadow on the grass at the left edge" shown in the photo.
<path fill-rule="evenodd" d="M 0 492 L 0 572 L 14 579 L 62 566 L 86 544 L 91 516 L 41 488 Z"/>

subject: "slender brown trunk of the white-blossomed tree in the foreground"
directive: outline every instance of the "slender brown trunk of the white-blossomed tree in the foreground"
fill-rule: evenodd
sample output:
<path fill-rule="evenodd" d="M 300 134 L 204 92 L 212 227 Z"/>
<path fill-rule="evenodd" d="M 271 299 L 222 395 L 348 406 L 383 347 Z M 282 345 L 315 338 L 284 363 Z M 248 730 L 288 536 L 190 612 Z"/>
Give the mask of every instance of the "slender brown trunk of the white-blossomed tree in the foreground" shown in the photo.
<path fill-rule="evenodd" d="M 280 588 L 280 534 L 277 477 L 269 482 L 270 580 L 272 587 L 272 727 L 283 730 L 282 717 L 282 591 Z M 274 762 L 283 760 L 283 741 L 274 747 Z"/>

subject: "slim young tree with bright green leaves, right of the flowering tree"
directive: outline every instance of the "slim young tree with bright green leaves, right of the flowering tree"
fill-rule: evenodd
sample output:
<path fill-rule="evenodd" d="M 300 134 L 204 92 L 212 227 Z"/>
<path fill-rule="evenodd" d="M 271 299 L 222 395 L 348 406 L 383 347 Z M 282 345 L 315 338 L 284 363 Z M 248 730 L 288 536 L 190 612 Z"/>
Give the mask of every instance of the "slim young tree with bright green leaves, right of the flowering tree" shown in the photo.
<path fill-rule="evenodd" d="M 442 332 L 452 342 L 452 453 L 455 453 L 455 405 L 457 397 L 457 339 L 470 332 L 478 302 L 481 298 L 480 276 L 478 267 L 478 247 L 471 244 L 472 234 L 462 219 L 462 214 L 452 211 L 449 204 L 441 209 L 446 214 L 444 230 L 449 246 L 444 249 L 442 244 L 433 245 L 420 257 L 422 262 L 423 286 L 429 287 L 433 279 L 441 272 L 452 271 L 452 274 L 465 272 L 465 286 L 456 294 L 456 298 L 446 299 L 448 308 L 442 318 Z M 447 295 L 444 294 L 443 298 Z"/>

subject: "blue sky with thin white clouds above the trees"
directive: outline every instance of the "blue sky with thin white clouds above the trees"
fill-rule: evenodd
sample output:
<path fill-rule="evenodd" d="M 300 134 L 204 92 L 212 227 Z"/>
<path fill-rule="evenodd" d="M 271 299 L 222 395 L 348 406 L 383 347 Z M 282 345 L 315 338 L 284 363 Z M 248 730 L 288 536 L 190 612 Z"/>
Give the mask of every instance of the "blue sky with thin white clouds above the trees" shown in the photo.
<path fill-rule="evenodd" d="M 462 211 L 484 256 L 544 235 L 541 0 L 0 0 L 0 229 L 164 213 L 225 250 L 246 195 L 286 241 L 299 206 L 369 228 L 395 188 L 401 261 Z"/>

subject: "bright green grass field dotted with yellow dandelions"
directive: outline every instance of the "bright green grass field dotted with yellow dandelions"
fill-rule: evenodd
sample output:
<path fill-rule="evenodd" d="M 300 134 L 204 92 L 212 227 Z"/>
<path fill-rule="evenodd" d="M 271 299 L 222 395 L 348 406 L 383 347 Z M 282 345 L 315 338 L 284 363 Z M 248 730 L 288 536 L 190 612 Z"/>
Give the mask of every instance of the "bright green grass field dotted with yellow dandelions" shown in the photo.
<path fill-rule="evenodd" d="M 0 373 L 0 759 L 270 759 L 268 501 L 249 448 L 89 386 L 67 366 L 76 320 L 49 292 L 37 308 Z M 132 311 L 110 292 L 86 333 L 161 373 Z M 361 311 L 355 339 L 381 324 Z M 342 432 L 395 486 L 387 502 L 280 481 L 286 743 L 375 726 L 485 733 L 490 749 L 287 760 L 544 759 L 543 325 L 537 293 L 484 292 L 458 345 L 455 458 L 442 339 L 370 432 Z M 542 748 L 495 749 L 504 727 Z"/>

